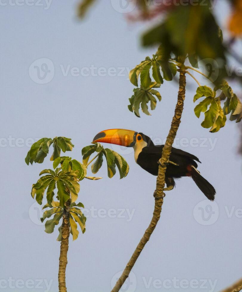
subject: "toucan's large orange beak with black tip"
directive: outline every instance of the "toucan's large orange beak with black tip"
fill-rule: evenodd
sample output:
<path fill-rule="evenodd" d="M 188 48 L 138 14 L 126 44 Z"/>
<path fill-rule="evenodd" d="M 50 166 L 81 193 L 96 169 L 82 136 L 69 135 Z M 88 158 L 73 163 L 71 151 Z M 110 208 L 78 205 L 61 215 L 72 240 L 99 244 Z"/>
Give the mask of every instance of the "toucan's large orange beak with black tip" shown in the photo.
<path fill-rule="evenodd" d="M 137 132 L 126 129 L 110 129 L 101 131 L 93 138 L 93 143 L 110 143 L 132 147 L 136 142 Z"/>

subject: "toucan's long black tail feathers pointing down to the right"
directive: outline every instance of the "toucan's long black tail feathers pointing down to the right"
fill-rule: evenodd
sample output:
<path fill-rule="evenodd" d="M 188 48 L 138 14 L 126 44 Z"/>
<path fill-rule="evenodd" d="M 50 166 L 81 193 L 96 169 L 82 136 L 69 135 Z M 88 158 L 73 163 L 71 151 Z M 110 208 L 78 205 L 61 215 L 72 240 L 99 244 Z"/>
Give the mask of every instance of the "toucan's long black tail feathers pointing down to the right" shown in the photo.
<path fill-rule="evenodd" d="M 192 167 L 192 179 L 195 181 L 195 184 L 199 189 L 204 193 L 204 195 L 210 200 L 213 201 L 215 198 L 216 191 L 214 187 L 198 172 L 195 167 Z"/>

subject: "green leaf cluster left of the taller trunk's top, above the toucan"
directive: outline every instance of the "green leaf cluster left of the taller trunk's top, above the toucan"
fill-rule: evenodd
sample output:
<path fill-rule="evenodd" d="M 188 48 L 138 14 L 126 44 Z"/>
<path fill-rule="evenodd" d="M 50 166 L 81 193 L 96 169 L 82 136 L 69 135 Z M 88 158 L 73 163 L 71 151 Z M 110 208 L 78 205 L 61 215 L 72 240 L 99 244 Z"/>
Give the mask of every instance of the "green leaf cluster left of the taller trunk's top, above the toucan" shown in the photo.
<path fill-rule="evenodd" d="M 151 69 L 154 81 L 152 81 L 150 77 Z M 164 80 L 171 81 L 176 72 L 176 65 L 172 60 L 167 61 L 167 56 L 164 55 L 163 47 L 159 46 L 157 53 L 153 55 L 152 59 L 146 57 L 144 61 L 130 71 L 130 82 L 137 86 L 137 88 L 133 90 L 134 94 L 129 99 L 129 110 L 134 112 L 137 117 L 140 117 L 139 108 L 141 107 L 144 114 L 150 115 L 148 103 L 150 102 L 150 109 L 154 110 L 156 107 L 156 98 L 161 101 L 161 94 L 153 88 L 159 88 Z M 138 87 L 139 76 L 140 88 Z"/>

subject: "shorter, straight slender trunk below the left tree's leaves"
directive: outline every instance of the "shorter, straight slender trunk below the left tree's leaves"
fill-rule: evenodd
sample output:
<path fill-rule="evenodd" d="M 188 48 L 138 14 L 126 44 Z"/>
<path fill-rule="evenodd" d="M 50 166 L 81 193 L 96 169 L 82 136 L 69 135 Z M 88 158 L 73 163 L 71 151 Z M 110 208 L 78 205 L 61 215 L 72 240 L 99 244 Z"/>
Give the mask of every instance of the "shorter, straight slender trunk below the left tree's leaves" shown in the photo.
<path fill-rule="evenodd" d="M 67 251 L 68 251 L 69 236 L 70 236 L 70 226 L 69 226 L 70 208 L 69 206 L 67 206 L 67 208 L 64 209 L 63 223 L 62 223 L 62 228 L 61 228 L 61 251 L 60 251 L 60 257 L 59 257 L 59 273 L 58 273 L 59 292 L 67 292 L 66 265 L 67 265 Z"/>

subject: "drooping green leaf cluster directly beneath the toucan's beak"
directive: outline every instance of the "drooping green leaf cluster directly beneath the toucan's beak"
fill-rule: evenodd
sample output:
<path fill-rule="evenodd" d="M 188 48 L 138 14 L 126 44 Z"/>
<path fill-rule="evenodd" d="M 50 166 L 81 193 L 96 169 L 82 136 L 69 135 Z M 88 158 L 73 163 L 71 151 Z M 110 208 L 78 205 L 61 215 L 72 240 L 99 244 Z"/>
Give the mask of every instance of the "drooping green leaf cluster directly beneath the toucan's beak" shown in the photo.
<path fill-rule="evenodd" d="M 97 155 L 90 161 L 91 163 L 96 159 L 95 162 L 91 165 L 91 170 L 94 174 L 97 173 L 102 166 L 103 156 L 105 156 L 107 160 L 107 173 L 109 178 L 112 178 L 115 175 L 115 166 L 118 168 L 120 178 L 124 178 L 128 174 L 129 165 L 127 164 L 126 160 L 117 152 L 109 148 L 104 148 L 99 143 L 93 143 L 93 145 L 86 146 L 82 149 L 82 163 L 87 166 L 89 164 L 88 161 L 90 156 L 95 152 Z"/>

